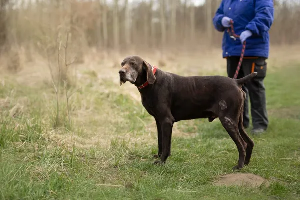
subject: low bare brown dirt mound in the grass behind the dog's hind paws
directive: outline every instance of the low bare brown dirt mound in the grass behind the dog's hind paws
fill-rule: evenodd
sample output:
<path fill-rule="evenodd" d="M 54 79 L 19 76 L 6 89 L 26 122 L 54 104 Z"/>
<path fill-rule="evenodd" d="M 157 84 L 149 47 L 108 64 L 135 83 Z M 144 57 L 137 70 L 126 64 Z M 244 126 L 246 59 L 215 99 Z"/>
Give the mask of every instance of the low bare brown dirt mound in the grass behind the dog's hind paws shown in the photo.
<path fill-rule="evenodd" d="M 216 186 L 246 186 L 246 187 L 259 187 L 260 185 L 269 186 L 269 182 L 251 173 L 233 173 L 221 176 L 214 182 Z"/>

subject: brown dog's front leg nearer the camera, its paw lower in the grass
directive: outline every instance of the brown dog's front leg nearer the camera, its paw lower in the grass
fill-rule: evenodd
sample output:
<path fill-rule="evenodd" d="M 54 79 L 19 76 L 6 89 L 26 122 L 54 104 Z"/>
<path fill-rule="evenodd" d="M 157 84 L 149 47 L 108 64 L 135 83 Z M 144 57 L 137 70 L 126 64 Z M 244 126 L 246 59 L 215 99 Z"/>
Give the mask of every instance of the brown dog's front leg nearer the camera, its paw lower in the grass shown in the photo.
<path fill-rule="evenodd" d="M 171 139 L 174 118 L 166 117 L 160 122 L 160 124 L 162 130 L 162 154 L 160 160 L 154 162 L 155 164 L 164 164 L 165 160 L 171 155 Z"/>

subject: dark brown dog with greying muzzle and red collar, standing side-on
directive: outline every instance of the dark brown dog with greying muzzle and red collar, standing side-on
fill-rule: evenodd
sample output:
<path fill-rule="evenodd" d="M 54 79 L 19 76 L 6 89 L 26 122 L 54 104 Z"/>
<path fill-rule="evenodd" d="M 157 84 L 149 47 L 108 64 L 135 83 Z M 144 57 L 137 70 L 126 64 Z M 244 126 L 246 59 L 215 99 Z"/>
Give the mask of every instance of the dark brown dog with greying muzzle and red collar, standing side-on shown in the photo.
<path fill-rule="evenodd" d="M 235 142 L 239 159 L 235 169 L 250 162 L 254 142 L 242 124 L 243 104 L 246 94 L 241 86 L 257 75 L 251 73 L 241 79 L 224 76 L 179 76 L 153 67 L 139 56 L 128 56 L 119 71 L 120 85 L 126 81 L 134 84 L 141 95 L 145 109 L 156 120 L 158 154 L 164 163 L 171 155 L 173 124 L 181 120 L 219 118 Z"/>

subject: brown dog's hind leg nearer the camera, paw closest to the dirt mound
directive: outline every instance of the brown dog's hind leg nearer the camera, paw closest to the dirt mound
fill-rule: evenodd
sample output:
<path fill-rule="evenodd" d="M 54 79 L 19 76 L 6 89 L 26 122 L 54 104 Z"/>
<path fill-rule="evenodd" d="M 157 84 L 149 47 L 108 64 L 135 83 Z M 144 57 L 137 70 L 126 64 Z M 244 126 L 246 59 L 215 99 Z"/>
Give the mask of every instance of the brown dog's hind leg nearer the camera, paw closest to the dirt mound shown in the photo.
<path fill-rule="evenodd" d="M 245 149 L 247 147 L 247 144 L 239 134 L 237 121 L 232 120 L 226 116 L 221 116 L 219 117 L 219 119 L 222 125 L 224 126 L 224 128 L 227 130 L 230 137 L 232 138 L 232 140 L 234 141 L 238 150 L 238 154 L 239 154 L 238 164 L 233 167 L 233 170 L 241 169 L 244 167 L 244 160 L 246 154 Z"/>

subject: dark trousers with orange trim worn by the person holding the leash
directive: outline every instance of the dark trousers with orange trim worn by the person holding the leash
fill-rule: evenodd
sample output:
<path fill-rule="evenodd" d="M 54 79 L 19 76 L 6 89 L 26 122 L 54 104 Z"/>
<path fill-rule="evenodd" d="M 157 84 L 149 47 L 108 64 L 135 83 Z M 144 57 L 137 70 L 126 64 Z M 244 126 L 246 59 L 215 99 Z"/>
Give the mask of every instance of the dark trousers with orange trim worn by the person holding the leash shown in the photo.
<path fill-rule="evenodd" d="M 238 78 L 242 78 L 253 71 L 257 72 L 256 77 L 248 81 L 242 86 L 246 93 L 246 99 L 243 112 L 243 125 L 249 127 L 249 97 L 251 102 L 251 115 L 253 128 L 267 129 L 268 115 L 266 110 L 265 87 L 263 80 L 266 76 L 266 58 L 264 57 L 244 57 L 242 65 L 239 70 Z M 227 57 L 227 73 L 228 77 L 233 78 L 239 57 Z"/>

